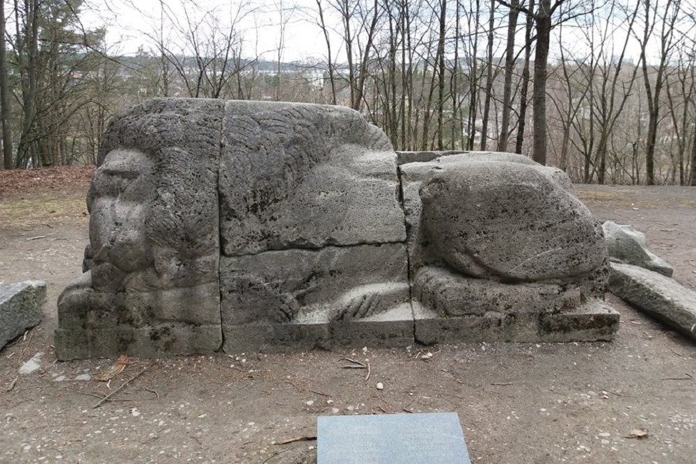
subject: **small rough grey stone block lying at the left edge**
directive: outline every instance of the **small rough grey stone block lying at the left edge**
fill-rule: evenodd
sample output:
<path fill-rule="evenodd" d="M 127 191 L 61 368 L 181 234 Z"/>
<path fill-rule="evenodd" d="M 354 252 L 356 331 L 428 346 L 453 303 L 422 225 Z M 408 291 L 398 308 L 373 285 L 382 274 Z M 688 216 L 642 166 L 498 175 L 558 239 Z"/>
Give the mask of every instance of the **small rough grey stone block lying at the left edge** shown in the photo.
<path fill-rule="evenodd" d="M 41 280 L 0 285 L 0 349 L 41 322 L 44 301 L 46 283 Z"/>

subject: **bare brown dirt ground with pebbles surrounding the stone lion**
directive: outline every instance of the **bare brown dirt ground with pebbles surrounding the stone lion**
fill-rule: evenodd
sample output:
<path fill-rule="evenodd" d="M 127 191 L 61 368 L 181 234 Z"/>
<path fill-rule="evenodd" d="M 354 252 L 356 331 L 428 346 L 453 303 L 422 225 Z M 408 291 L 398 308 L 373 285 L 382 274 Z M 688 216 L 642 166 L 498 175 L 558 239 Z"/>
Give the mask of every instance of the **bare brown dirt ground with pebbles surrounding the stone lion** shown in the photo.
<path fill-rule="evenodd" d="M 80 272 L 88 237 L 84 186 L 63 193 L 52 195 L 63 213 L 12 220 L 3 211 L 17 210 L 19 196 L 0 197 L 0 281 L 49 285 L 45 320 L 0 351 L 0 463 L 312 463 L 316 442 L 274 442 L 315 435 L 318 415 L 405 411 L 459 413 L 473 463 L 695 462 L 696 346 L 616 298 L 613 343 L 220 354 L 133 360 L 110 385 L 56 381 L 94 378 L 113 362 L 54 362 L 56 298 Z M 675 278 L 696 288 L 695 189 L 578 186 L 578 195 L 600 219 L 646 232 Z M 6 391 L 37 352 L 44 369 Z M 370 362 L 368 381 L 342 368 L 345 356 Z M 629 438 L 634 429 L 649 435 Z"/>

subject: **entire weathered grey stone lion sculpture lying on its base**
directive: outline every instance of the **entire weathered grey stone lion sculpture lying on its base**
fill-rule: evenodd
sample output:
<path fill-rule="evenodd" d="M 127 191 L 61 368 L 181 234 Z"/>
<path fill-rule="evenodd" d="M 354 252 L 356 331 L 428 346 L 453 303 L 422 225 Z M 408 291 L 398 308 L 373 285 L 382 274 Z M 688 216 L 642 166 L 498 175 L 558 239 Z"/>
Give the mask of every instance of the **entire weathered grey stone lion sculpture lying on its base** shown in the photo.
<path fill-rule="evenodd" d="M 60 359 L 611 339 L 599 226 L 559 170 L 397 154 L 338 106 L 153 99 L 110 122 Z"/>

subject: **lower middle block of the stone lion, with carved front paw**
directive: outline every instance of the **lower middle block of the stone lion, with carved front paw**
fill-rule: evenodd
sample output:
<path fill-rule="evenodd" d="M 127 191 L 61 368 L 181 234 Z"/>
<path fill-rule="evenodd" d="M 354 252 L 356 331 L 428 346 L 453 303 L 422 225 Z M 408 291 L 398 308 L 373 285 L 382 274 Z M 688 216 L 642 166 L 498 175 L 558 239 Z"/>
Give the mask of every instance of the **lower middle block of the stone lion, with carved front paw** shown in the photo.
<path fill-rule="evenodd" d="M 393 310 L 409 301 L 406 262 L 406 248 L 401 243 L 222 257 L 225 350 L 248 346 L 232 335 L 239 326 L 254 326 L 262 338 L 263 334 L 277 333 L 280 339 L 296 339 L 298 333 L 312 330 L 308 326 L 335 323 L 330 328 L 333 337 L 342 330 L 339 322 Z M 412 328 L 411 314 L 406 317 Z M 289 327 L 276 328 L 274 324 Z"/>

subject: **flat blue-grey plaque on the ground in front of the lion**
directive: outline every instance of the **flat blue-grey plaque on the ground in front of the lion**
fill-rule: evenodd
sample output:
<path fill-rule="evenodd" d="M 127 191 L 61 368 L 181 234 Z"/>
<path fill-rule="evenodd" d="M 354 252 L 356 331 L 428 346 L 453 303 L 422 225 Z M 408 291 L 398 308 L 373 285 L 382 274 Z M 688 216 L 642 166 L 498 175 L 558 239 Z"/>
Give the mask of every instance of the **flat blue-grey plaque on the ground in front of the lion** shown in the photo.
<path fill-rule="evenodd" d="M 317 464 L 470 464 L 457 413 L 322 416 Z"/>

